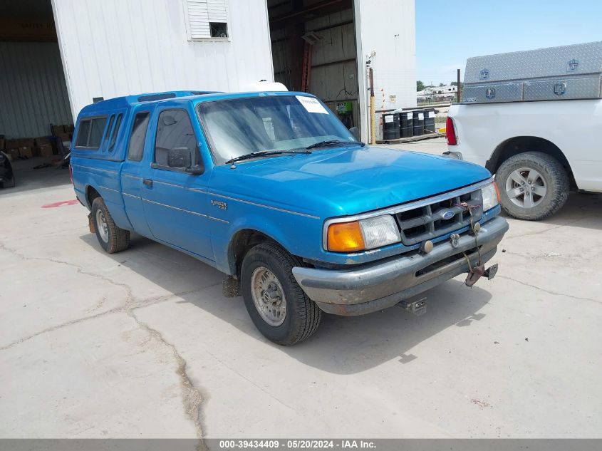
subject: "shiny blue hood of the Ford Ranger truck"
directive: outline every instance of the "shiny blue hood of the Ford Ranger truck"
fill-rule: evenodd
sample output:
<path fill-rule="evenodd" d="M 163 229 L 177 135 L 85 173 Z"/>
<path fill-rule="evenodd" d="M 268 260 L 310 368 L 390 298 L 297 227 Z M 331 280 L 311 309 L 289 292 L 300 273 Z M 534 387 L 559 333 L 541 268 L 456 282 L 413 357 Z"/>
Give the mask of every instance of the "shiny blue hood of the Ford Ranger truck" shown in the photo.
<path fill-rule="evenodd" d="M 331 217 L 403 204 L 491 177 L 484 167 L 447 157 L 383 147 L 316 150 L 237 163 L 229 185 L 213 186 L 262 204 Z M 232 172 L 242 177 L 232 177 Z M 232 184 L 234 182 L 234 184 Z M 252 187 L 252 190 L 249 189 Z"/>

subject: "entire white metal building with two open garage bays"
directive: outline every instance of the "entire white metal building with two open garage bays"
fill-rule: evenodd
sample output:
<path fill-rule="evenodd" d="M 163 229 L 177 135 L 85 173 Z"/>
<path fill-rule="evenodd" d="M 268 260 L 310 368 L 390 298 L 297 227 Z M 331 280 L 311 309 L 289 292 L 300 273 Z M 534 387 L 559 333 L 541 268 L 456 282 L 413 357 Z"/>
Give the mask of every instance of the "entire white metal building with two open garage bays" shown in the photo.
<path fill-rule="evenodd" d="M 0 135 L 51 133 L 98 98 L 245 90 L 318 95 L 368 138 L 377 108 L 415 106 L 414 0 L 3 0 Z"/>

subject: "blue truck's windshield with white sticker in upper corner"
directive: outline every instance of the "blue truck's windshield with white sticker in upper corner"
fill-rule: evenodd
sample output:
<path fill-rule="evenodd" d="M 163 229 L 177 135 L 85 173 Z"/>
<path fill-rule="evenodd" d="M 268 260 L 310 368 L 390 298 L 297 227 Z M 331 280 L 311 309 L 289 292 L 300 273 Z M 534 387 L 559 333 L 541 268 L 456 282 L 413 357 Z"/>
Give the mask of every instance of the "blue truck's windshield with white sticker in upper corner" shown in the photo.
<path fill-rule="evenodd" d="M 316 142 L 357 142 L 336 115 L 304 95 L 212 100 L 199 104 L 199 117 L 218 165 L 251 152 L 286 153 Z"/>

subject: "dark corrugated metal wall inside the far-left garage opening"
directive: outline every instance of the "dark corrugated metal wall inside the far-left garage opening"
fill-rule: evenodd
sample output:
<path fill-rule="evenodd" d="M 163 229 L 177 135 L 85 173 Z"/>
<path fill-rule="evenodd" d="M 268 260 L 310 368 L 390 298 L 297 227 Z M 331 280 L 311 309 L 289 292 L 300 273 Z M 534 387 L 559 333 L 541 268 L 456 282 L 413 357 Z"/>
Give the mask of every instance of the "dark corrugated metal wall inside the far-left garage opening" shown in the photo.
<path fill-rule="evenodd" d="M 0 134 L 49 135 L 73 123 L 56 42 L 0 42 Z"/>

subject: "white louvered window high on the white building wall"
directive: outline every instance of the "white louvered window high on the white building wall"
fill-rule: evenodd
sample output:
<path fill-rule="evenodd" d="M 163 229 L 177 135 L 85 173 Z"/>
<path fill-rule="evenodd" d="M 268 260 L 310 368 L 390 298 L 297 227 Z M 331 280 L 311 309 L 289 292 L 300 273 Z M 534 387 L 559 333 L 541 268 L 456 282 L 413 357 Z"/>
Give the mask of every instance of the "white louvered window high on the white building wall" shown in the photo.
<path fill-rule="evenodd" d="M 185 0 L 190 41 L 227 38 L 226 0 Z"/>

